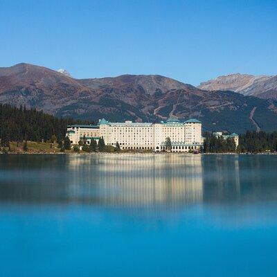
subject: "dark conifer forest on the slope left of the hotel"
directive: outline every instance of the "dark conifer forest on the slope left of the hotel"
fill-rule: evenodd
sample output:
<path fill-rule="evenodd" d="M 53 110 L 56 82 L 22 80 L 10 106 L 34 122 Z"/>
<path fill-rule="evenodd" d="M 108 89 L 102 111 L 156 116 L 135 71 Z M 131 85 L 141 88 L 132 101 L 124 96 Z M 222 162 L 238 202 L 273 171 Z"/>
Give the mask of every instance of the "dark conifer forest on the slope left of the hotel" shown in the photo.
<path fill-rule="evenodd" d="M 89 124 L 89 121 L 56 118 L 36 109 L 0 104 L 1 146 L 8 146 L 10 141 L 49 141 L 54 135 L 57 141 L 62 141 L 66 126 L 71 124 Z"/>

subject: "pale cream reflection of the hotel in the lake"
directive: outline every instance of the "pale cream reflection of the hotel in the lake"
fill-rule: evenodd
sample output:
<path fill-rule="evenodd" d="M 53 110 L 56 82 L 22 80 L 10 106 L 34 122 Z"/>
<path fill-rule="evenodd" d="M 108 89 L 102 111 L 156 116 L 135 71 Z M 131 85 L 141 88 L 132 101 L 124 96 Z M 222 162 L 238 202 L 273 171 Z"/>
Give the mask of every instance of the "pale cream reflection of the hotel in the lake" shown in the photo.
<path fill-rule="evenodd" d="M 97 155 L 69 157 L 68 193 L 111 206 L 202 202 L 200 155 Z"/>

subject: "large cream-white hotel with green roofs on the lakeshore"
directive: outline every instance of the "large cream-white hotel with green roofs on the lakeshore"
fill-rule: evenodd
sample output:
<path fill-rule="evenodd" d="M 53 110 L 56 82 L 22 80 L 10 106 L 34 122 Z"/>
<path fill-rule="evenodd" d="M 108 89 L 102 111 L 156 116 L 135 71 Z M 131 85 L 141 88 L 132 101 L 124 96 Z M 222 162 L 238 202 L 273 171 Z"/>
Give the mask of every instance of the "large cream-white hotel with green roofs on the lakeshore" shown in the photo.
<path fill-rule="evenodd" d="M 181 122 L 171 118 L 161 123 L 111 123 L 102 118 L 97 125 L 69 125 L 67 136 L 72 144 L 85 136 L 87 144 L 91 139 L 98 141 L 103 137 L 106 145 L 116 146 L 118 142 L 123 150 L 166 150 L 166 138 L 170 138 L 172 152 L 197 151 L 203 145 L 202 123 L 197 119 Z"/>

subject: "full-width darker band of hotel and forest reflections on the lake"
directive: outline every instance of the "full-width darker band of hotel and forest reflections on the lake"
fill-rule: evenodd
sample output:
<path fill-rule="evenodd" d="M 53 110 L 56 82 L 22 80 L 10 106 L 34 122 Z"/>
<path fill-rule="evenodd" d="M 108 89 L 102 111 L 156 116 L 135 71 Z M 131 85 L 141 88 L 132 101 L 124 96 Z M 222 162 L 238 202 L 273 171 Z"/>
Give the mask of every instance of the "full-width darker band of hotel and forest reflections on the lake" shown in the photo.
<path fill-rule="evenodd" d="M 0 202 L 149 208 L 276 199 L 273 155 L 0 157 Z"/>

